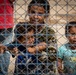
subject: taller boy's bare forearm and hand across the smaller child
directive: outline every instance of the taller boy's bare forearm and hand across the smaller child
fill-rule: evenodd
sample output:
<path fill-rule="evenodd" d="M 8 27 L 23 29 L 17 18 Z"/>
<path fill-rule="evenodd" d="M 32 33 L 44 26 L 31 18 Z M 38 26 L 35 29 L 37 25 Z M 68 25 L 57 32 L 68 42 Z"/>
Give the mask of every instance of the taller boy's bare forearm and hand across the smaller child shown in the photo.
<path fill-rule="evenodd" d="M 37 44 L 37 45 L 34 46 L 34 47 L 28 47 L 27 50 L 28 50 L 28 52 L 35 54 L 36 51 L 38 51 L 38 52 L 39 52 L 39 51 L 42 51 L 42 50 L 44 50 L 46 47 L 47 47 L 47 44 L 46 44 L 45 42 L 41 42 L 41 43 Z"/>

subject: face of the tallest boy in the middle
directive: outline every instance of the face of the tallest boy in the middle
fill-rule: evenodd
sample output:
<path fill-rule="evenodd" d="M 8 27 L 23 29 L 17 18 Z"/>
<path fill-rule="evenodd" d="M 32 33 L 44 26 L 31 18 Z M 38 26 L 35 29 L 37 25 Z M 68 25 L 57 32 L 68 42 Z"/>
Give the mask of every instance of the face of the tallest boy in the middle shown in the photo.
<path fill-rule="evenodd" d="M 45 9 L 41 6 L 31 6 L 29 13 L 30 23 L 32 24 L 43 24 L 45 19 Z"/>

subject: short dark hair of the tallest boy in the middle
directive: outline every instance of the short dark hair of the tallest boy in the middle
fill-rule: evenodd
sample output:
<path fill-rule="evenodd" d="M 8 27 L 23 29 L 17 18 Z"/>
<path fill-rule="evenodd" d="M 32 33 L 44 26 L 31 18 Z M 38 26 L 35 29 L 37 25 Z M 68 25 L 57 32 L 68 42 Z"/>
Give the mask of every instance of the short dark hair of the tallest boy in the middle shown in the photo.
<path fill-rule="evenodd" d="M 30 4 L 28 5 L 28 10 L 30 10 L 30 7 L 33 5 L 43 6 L 47 14 L 50 12 L 50 5 L 47 0 L 32 0 Z"/>

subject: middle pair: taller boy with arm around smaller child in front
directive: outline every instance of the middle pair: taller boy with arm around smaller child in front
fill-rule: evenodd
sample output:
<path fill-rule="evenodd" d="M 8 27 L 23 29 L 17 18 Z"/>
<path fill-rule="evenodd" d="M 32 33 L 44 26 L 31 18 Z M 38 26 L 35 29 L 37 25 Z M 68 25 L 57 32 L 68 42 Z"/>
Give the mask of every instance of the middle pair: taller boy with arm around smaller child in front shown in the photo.
<path fill-rule="evenodd" d="M 20 53 L 16 59 L 14 75 L 55 74 L 55 32 L 44 22 L 49 10 L 48 1 L 32 0 L 28 5 L 29 22 L 16 25 L 17 41 L 15 42 Z"/>

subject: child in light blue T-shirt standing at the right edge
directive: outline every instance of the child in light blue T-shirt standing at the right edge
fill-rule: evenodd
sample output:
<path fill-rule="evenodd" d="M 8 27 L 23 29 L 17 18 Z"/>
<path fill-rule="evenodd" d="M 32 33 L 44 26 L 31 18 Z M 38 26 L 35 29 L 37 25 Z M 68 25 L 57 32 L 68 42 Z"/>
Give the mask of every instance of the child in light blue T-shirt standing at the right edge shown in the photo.
<path fill-rule="evenodd" d="M 65 26 L 68 43 L 58 49 L 58 72 L 60 75 L 76 75 L 76 22 Z M 63 63 L 63 67 L 62 67 Z"/>

